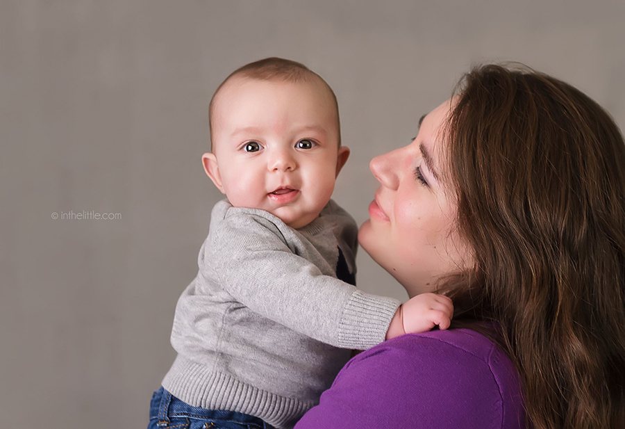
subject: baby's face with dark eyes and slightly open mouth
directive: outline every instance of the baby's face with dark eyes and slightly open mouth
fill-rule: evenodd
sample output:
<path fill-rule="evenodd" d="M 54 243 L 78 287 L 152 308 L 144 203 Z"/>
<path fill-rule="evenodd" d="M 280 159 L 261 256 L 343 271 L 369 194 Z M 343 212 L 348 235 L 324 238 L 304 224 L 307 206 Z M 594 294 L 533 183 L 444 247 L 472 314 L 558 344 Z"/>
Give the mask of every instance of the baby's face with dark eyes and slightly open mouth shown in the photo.
<path fill-rule="evenodd" d="M 293 228 L 317 218 L 349 156 L 323 84 L 235 77 L 215 102 L 217 168 L 206 155 L 205 166 L 233 206 L 269 211 Z"/>

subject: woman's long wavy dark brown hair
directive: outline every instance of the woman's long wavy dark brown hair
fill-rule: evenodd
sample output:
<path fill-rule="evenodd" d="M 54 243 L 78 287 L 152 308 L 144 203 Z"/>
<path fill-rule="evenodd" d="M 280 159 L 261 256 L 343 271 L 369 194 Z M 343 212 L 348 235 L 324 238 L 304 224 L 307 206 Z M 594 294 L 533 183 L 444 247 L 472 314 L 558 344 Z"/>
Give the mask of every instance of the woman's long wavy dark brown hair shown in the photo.
<path fill-rule="evenodd" d="M 496 321 L 528 425 L 625 428 L 625 143 L 545 74 L 476 67 L 446 127 L 475 266 L 447 282 L 456 324 Z"/>

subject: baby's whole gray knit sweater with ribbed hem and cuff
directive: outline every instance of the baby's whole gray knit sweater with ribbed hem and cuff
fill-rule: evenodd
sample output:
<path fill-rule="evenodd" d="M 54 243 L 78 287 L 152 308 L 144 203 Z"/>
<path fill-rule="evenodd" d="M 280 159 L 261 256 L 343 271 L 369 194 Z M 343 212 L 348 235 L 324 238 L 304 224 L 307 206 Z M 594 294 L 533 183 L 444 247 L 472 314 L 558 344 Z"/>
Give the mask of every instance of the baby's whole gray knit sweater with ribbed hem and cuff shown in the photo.
<path fill-rule="evenodd" d="M 333 201 L 292 229 L 215 205 L 197 277 L 178 300 L 163 387 L 185 403 L 290 428 L 331 386 L 351 348 L 381 343 L 400 302 L 337 279 L 355 273 L 358 229 Z"/>

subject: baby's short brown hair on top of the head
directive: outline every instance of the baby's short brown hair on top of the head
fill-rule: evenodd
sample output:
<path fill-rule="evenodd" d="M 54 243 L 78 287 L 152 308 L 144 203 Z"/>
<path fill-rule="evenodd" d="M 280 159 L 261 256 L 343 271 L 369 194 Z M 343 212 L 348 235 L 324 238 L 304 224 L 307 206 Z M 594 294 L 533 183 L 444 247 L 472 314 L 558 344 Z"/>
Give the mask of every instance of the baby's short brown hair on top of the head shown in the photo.
<path fill-rule="evenodd" d="M 219 91 L 224 87 L 224 85 L 226 85 L 226 82 L 234 76 L 241 76 L 258 81 L 284 81 L 292 83 L 308 82 L 314 79 L 319 79 L 319 81 L 321 81 L 324 86 L 328 88 L 328 91 L 332 95 L 336 111 L 336 126 L 339 136 L 339 146 L 341 145 L 341 127 L 338 113 L 338 101 L 332 88 L 322 78 L 322 76 L 319 76 L 319 74 L 310 70 L 306 67 L 306 65 L 297 63 L 297 61 L 285 60 L 284 58 L 271 57 L 254 61 L 253 63 L 249 63 L 238 68 L 226 77 L 226 79 L 224 79 L 215 91 L 215 94 L 213 94 L 213 98 L 210 99 L 210 104 L 208 105 L 208 128 L 210 131 L 211 150 L 213 150 L 213 111 L 215 110 L 215 99 L 217 98 Z"/>

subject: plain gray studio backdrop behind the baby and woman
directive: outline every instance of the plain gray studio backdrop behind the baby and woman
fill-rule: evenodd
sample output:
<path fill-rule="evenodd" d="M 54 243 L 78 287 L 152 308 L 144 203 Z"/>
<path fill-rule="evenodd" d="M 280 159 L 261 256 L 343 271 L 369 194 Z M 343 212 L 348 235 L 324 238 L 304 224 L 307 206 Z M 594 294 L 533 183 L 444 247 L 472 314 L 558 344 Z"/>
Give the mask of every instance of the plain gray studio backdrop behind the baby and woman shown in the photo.
<path fill-rule="evenodd" d="M 623 1 L 3 0 L 0 10 L 3 428 L 147 425 L 174 358 L 176 300 L 221 197 L 200 161 L 208 101 L 244 63 L 292 58 L 334 88 L 352 149 L 335 199 L 358 222 L 376 188 L 369 160 L 406 145 L 472 63 L 522 61 L 625 124 Z M 77 213 L 121 218 L 62 219 Z M 406 298 L 365 252 L 358 264 L 362 289 Z"/>

